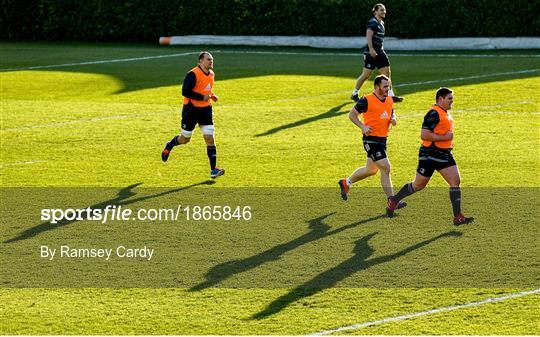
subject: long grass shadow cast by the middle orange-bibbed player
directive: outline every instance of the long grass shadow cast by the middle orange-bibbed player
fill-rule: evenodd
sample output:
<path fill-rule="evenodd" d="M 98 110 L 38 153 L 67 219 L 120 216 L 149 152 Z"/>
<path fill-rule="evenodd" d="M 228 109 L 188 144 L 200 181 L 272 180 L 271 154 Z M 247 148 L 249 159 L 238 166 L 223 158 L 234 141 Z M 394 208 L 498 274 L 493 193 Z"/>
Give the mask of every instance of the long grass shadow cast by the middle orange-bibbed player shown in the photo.
<path fill-rule="evenodd" d="M 302 245 L 341 233 L 348 229 L 352 229 L 359 225 L 363 225 L 385 217 L 385 215 L 378 215 L 368 219 L 353 222 L 351 224 L 336 228 L 334 230 L 330 230 L 331 227 L 324 223 L 324 219 L 328 218 L 334 213 L 335 212 L 309 220 L 308 228 L 310 229 L 310 231 L 289 242 L 282 243 L 259 254 L 241 260 L 227 261 L 213 267 L 204 275 L 206 280 L 190 288 L 190 291 L 198 291 L 213 287 L 236 274 L 247 272 L 251 269 L 262 266 L 267 262 L 277 261 L 287 252 L 290 252 L 293 249 L 296 249 Z"/>

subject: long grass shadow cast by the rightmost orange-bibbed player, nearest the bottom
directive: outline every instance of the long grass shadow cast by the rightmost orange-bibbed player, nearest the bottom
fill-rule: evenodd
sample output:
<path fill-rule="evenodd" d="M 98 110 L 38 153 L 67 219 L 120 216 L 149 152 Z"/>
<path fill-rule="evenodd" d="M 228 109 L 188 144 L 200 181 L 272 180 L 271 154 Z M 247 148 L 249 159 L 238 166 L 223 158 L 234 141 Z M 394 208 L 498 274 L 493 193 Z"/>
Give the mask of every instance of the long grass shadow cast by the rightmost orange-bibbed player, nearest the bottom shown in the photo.
<path fill-rule="evenodd" d="M 289 306 L 291 303 L 301 300 L 302 298 L 313 296 L 324 289 L 334 287 L 336 284 L 338 284 L 338 282 L 346 279 L 347 277 L 353 275 L 358 271 L 371 268 L 381 263 L 390 262 L 412 251 L 427 246 L 430 243 L 439 239 L 447 237 L 457 237 L 462 235 L 462 233 L 458 231 L 449 231 L 439 234 L 431 239 L 419 242 L 405 249 L 402 249 L 394 254 L 369 259 L 369 257 L 375 252 L 375 250 L 369 245 L 369 240 L 371 240 L 371 238 L 373 238 L 377 234 L 378 232 L 371 233 L 357 240 L 353 250 L 354 255 L 351 256 L 349 259 L 341 262 L 334 268 L 328 269 L 327 271 L 315 276 L 306 283 L 294 288 L 287 294 L 274 300 L 263 311 L 260 311 L 251 316 L 251 319 L 263 319 L 268 316 L 277 314 L 278 312 Z"/>

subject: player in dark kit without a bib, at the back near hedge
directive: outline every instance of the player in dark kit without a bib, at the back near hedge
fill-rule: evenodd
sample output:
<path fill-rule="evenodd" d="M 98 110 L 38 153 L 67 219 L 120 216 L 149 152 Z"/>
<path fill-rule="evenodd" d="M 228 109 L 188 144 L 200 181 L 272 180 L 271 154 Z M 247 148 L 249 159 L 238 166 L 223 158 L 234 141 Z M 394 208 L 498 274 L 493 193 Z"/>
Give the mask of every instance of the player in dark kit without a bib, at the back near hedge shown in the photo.
<path fill-rule="evenodd" d="M 386 17 L 386 7 L 383 4 L 376 4 L 373 9 L 373 17 L 369 19 L 366 29 L 366 41 L 367 46 L 364 49 L 364 69 L 362 74 L 356 80 L 351 99 L 353 101 L 358 100 L 358 91 L 364 84 L 364 82 L 371 77 L 375 68 L 379 69 L 379 72 L 390 76 L 390 61 L 384 51 L 384 34 L 386 32 L 383 19 Z M 394 102 L 403 101 L 402 97 L 395 96 L 392 89 L 389 91 L 389 96 L 392 96 Z"/>

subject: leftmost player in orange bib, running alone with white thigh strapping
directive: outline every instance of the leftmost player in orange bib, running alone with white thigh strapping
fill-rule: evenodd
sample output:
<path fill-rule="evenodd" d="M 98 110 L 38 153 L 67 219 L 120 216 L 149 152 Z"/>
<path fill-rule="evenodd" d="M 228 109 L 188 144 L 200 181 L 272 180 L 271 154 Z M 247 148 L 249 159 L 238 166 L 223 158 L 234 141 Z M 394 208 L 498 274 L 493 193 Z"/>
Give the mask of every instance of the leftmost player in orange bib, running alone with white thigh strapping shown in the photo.
<path fill-rule="evenodd" d="M 199 64 L 191 69 L 182 82 L 182 127 L 180 135 L 174 136 L 161 152 L 161 159 L 167 161 L 172 149 L 187 144 L 195 126 L 199 124 L 206 142 L 206 154 L 210 162 L 210 177 L 215 179 L 225 170 L 216 166 L 217 150 L 214 140 L 214 122 L 212 120 L 212 101 L 218 97 L 212 92 L 214 87 L 214 58 L 209 52 L 199 54 Z"/>

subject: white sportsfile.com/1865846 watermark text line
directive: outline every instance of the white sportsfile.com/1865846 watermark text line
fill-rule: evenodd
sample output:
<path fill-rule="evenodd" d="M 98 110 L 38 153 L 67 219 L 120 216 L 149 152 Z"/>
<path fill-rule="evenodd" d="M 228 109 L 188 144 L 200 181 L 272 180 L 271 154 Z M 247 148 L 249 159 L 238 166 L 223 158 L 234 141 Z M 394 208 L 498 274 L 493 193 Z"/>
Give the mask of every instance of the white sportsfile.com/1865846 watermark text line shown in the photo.
<path fill-rule="evenodd" d="M 103 208 L 44 208 L 41 221 L 58 224 L 62 221 L 249 221 L 252 218 L 251 206 L 178 205 L 176 208 L 131 209 L 122 205 L 107 205 Z"/>

